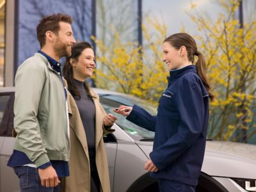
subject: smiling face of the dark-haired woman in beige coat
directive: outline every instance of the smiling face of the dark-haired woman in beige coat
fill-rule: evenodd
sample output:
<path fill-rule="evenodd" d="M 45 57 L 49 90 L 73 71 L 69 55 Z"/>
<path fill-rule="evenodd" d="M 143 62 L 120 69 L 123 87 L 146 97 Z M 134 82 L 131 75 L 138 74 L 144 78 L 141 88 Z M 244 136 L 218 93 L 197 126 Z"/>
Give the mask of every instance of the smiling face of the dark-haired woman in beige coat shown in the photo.
<path fill-rule="evenodd" d="M 87 77 L 92 77 L 95 69 L 95 56 L 91 48 L 84 49 L 77 61 L 72 61 L 74 78 L 84 81 Z"/>

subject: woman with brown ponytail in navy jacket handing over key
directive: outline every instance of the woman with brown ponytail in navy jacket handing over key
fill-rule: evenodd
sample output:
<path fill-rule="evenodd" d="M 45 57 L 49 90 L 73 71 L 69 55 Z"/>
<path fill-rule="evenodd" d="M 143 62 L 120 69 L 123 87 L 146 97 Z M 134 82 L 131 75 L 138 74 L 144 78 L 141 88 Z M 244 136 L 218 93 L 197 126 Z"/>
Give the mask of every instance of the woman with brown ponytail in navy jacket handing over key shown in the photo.
<path fill-rule="evenodd" d="M 198 61 L 193 65 L 195 56 Z M 157 116 L 136 105 L 120 106 L 114 111 L 156 132 L 144 168 L 159 180 L 160 191 L 195 191 L 204 159 L 209 99 L 214 96 L 205 76 L 204 56 L 190 35 L 177 33 L 166 38 L 163 61 L 170 76 Z"/>

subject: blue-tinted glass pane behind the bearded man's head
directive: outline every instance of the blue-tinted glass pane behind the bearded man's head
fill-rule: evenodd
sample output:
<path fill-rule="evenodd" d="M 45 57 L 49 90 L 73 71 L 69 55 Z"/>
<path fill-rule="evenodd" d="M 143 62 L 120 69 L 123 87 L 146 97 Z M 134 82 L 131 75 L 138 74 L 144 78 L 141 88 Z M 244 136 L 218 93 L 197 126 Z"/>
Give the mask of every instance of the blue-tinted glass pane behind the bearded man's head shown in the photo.
<path fill-rule="evenodd" d="M 77 41 L 90 41 L 92 35 L 92 0 L 19 1 L 19 48 L 17 63 L 15 63 L 17 66 L 40 49 L 36 37 L 36 26 L 42 17 L 53 13 L 70 15 L 74 38 Z"/>

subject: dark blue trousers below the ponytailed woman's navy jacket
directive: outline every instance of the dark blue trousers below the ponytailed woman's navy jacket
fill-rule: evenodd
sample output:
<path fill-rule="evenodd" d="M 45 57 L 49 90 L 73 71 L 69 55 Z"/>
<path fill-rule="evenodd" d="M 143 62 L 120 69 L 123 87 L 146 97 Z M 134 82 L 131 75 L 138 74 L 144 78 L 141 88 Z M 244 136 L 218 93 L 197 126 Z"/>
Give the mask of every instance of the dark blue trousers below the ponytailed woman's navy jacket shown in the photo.
<path fill-rule="evenodd" d="M 195 192 L 195 186 L 189 186 L 175 180 L 158 180 L 160 192 Z"/>

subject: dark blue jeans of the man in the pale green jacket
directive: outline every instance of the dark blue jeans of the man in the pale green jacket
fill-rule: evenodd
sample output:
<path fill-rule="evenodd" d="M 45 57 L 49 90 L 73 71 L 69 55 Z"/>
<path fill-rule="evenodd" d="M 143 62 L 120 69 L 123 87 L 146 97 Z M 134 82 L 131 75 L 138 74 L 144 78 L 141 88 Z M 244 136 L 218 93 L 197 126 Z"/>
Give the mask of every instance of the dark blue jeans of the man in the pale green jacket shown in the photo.
<path fill-rule="evenodd" d="M 15 166 L 14 172 L 20 179 L 20 192 L 58 192 L 60 184 L 55 188 L 46 188 L 41 185 L 38 169 L 29 166 Z"/>

